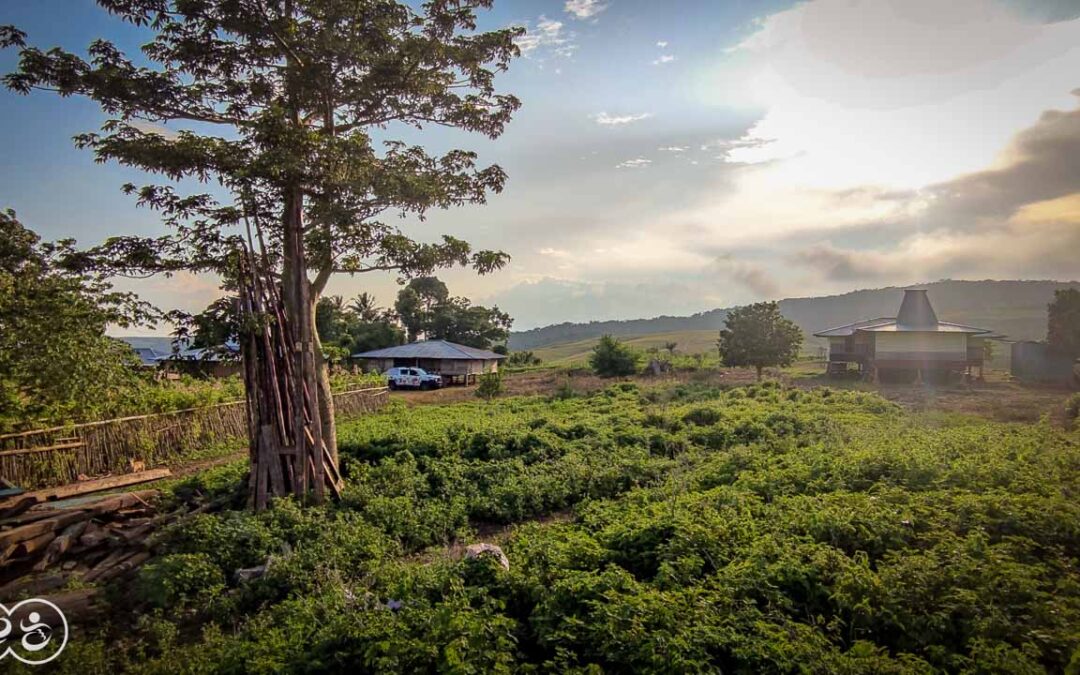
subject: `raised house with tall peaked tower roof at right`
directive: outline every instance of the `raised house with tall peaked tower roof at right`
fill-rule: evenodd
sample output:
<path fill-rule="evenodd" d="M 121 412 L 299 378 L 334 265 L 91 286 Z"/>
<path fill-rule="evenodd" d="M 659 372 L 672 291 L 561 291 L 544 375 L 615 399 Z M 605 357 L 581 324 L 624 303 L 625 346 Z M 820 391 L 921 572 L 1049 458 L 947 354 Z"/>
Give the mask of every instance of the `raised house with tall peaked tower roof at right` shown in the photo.
<path fill-rule="evenodd" d="M 988 328 L 939 321 L 923 289 L 904 291 L 896 316 L 856 321 L 820 333 L 828 338 L 828 373 L 843 373 L 855 364 L 865 377 L 881 375 L 946 377 L 950 373 L 983 376 L 986 340 L 1000 338 Z"/>

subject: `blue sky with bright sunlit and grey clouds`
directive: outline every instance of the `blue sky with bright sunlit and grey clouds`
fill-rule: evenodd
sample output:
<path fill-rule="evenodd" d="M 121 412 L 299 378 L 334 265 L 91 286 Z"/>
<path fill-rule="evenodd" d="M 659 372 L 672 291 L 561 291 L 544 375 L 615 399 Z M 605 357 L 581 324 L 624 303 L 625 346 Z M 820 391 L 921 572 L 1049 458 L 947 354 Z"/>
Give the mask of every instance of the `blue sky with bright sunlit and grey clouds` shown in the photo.
<path fill-rule="evenodd" d="M 80 52 L 147 38 L 90 0 L 0 0 L 0 24 Z M 403 227 L 509 253 L 495 274 L 440 276 L 516 329 L 1080 279 L 1080 0 L 495 0 L 481 16 L 509 25 L 527 32 L 497 79 L 523 102 L 505 133 L 405 138 L 475 150 L 505 189 Z M 86 245 L 163 232 L 120 191 L 145 177 L 75 148 L 104 120 L 84 99 L 0 92 L 0 207 Z M 120 285 L 188 311 L 219 294 L 208 276 Z M 389 306 L 397 289 L 365 274 L 328 293 Z"/>

